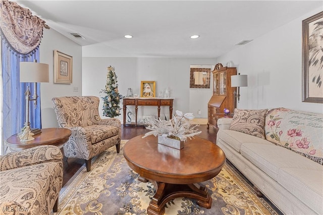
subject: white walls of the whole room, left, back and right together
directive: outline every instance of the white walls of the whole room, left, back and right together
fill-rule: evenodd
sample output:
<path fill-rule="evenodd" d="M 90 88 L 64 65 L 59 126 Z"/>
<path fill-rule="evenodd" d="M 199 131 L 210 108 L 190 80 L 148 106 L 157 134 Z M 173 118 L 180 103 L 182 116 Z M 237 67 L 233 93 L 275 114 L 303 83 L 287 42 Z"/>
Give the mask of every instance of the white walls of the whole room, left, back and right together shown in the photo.
<path fill-rule="evenodd" d="M 126 95 L 130 87 L 140 94 L 140 81 L 156 81 L 156 96 L 170 87 L 175 97 L 174 111 L 192 112 L 204 117 L 211 93 L 206 89 L 189 88 L 190 65 L 214 65 L 237 67 L 248 75 L 248 87 L 240 88 L 241 109 L 285 107 L 322 113 L 323 105 L 302 102 L 302 29 L 301 21 L 321 9 L 303 15 L 240 48 L 216 59 L 192 58 L 90 58 L 82 59 L 82 47 L 55 30 L 44 30 L 40 45 L 40 62 L 49 64 L 50 81 L 41 83 L 42 127 L 56 127 L 56 115 L 52 97 L 66 95 L 96 95 L 105 87 L 106 67 L 116 68 L 120 93 Z M 53 83 L 53 50 L 73 56 L 73 83 Z M 85 56 L 86 53 L 84 53 Z M 211 85 L 212 86 L 212 85 Z M 78 87 L 78 92 L 74 92 Z M 122 104 L 121 104 L 122 105 Z M 191 108 L 194 106 L 193 108 Z M 197 110 L 201 110 L 198 116 Z M 134 113 L 134 107 L 129 106 Z M 102 116 L 101 106 L 100 114 Z M 156 115 L 156 107 L 139 107 L 138 119 L 143 115 Z M 161 108 L 161 116 L 168 116 L 168 107 Z M 205 113 L 205 117 L 207 113 Z M 120 120 L 123 116 L 118 117 Z M 134 117 L 132 117 L 134 119 Z"/>

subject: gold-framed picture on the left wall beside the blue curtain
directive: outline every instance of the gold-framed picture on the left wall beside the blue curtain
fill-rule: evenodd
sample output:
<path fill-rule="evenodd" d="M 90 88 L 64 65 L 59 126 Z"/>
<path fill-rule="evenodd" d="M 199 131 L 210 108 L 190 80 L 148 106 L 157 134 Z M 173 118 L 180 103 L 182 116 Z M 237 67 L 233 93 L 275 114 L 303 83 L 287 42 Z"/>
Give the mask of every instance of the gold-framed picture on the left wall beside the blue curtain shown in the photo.
<path fill-rule="evenodd" d="M 54 83 L 72 83 L 73 57 L 54 50 Z"/>

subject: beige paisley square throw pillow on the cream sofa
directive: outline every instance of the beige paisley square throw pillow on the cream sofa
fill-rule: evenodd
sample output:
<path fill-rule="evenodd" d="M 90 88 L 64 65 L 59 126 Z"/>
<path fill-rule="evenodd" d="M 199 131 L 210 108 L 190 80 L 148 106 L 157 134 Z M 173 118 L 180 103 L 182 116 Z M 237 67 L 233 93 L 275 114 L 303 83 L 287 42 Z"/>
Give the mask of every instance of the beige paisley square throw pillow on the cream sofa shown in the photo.
<path fill-rule="evenodd" d="M 268 109 L 240 110 L 235 109 L 230 130 L 239 131 L 265 139 L 264 119 Z"/>

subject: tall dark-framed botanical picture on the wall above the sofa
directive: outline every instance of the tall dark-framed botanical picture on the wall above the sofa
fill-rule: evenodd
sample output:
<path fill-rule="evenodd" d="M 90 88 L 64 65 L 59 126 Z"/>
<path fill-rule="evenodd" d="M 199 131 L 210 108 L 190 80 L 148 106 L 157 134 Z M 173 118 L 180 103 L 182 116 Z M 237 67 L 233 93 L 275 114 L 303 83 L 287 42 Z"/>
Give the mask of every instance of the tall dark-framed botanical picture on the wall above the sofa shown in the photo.
<path fill-rule="evenodd" d="M 323 12 L 302 21 L 302 101 L 323 103 Z"/>

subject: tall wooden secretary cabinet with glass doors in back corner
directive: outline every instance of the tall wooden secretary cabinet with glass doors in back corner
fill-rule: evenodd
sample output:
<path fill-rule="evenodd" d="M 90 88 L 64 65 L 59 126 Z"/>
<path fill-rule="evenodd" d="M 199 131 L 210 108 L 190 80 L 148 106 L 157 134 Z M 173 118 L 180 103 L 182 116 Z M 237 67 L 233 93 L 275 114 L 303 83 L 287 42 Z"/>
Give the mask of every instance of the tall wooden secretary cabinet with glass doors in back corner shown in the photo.
<path fill-rule="evenodd" d="M 223 67 L 222 64 L 217 64 L 213 74 L 213 92 L 212 97 L 208 101 L 208 120 L 209 125 L 217 127 L 219 118 L 232 118 L 234 112 L 234 91 L 236 87 L 231 87 L 231 76 L 237 75 L 236 67 Z M 229 109 L 231 115 L 225 115 L 224 109 Z"/>

